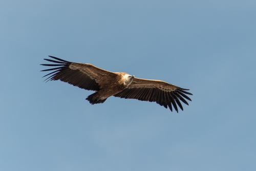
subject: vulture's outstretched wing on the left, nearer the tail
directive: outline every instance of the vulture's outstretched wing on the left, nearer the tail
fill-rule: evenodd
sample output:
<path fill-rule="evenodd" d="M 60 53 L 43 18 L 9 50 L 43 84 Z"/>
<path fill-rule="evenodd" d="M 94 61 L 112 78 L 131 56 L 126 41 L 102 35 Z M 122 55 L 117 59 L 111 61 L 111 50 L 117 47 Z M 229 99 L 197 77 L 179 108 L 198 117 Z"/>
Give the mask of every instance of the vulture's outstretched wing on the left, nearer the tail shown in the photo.
<path fill-rule="evenodd" d="M 57 67 L 42 71 L 53 72 L 45 75 L 51 75 L 46 80 L 61 80 L 68 82 L 81 89 L 99 91 L 100 87 L 108 83 L 116 74 L 91 65 L 90 63 L 77 63 L 63 60 L 54 56 L 49 56 L 56 60 L 45 59 L 55 64 L 41 64 L 42 66 Z M 45 77 L 44 76 L 44 77 Z"/>

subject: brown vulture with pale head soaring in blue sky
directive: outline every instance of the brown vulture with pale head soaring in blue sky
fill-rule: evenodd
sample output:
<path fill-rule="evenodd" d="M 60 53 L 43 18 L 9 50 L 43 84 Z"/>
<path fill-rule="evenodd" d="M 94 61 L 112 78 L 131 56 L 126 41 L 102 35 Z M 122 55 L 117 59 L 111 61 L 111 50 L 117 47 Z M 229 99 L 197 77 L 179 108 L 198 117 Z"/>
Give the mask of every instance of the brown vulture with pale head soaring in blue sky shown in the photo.
<path fill-rule="evenodd" d="M 91 104 L 103 103 L 108 97 L 115 96 L 125 99 L 138 99 L 141 101 L 156 102 L 170 111 L 178 113 L 178 106 L 183 111 L 180 101 L 187 104 L 191 99 L 186 95 L 193 95 L 187 90 L 162 80 L 136 78 L 125 72 L 110 72 L 90 63 L 78 63 L 63 60 L 54 56 L 45 59 L 54 64 L 41 64 L 42 66 L 56 67 L 42 71 L 53 72 L 46 80 L 61 80 L 73 86 L 85 90 L 93 90 L 95 93 L 86 98 Z M 44 76 L 44 77 L 45 77 Z M 173 107 L 172 107 L 173 105 Z"/>

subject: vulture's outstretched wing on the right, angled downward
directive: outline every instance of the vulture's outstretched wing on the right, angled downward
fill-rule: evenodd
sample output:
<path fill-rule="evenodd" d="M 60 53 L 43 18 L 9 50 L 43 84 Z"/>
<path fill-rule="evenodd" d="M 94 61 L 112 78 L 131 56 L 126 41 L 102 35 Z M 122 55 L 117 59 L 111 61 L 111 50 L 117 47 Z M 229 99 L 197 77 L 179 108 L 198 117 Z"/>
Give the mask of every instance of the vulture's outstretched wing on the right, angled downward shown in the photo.
<path fill-rule="evenodd" d="M 126 99 L 138 99 L 141 101 L 154 101 L 163 105 L 166 109 L 168 106 L 170 111 L 173 111 L 173 104 L 174 109 L 178 113 L 177 104 L 183 111 L 180 101 L 187 105 L 188 103 L 185 99 L 191 101 L 191 99 L 185 94 L 193 95 L 185 90 L 189 89 L 182 89 L 174 84 L 161 80 L 134 78 L 129 87 L 114 96 Z"/>

